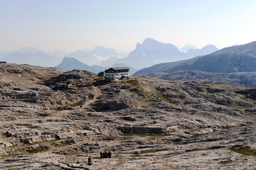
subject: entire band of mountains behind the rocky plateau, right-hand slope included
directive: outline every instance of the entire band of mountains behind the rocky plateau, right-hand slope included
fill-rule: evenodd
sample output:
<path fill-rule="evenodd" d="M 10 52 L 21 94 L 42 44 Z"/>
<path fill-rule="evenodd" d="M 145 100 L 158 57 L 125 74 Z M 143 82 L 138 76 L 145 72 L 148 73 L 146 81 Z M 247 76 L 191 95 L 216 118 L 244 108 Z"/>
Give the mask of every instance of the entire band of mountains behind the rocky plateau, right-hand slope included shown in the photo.
<path fill-rule="evenodd" d="M 126 55 L 103 46 L 68 54 L 29 47 L 0 52 L 0 60 L 96 74 L 110 67 L 129 67 L 130 75 L 148 74 L 168 80 L 219 81 L 256 87 L 256 42 L 220 50 L 214 45 L 202 49 L 186 45 L 179 50 L 172 44 L 146 38 Z"/>

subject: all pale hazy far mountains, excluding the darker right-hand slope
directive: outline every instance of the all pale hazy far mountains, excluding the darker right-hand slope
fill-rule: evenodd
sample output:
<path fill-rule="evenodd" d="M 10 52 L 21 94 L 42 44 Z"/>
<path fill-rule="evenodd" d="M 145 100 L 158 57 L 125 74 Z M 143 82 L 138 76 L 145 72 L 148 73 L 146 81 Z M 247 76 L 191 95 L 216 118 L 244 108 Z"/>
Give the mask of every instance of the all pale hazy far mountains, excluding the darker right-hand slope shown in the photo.
<path fill-rule="evenodd" d="M 92 50 L 77 50 L 71 53 L 63 53 L 61 51 L 43 52 L 36 48 L 28 47 L 15 51 L 0 52 L 0 58 L 2 61 L 17 64 L 57 67 L 63 70 L 86 68 L 93 73 L 99 70 L 102 71 L 102 69 L 99 69 L 101 67 L 109 68 L 113 67 L 113 65 L 125 64 L 131 68 L 130 71 L 136 72 L 141 68 L 151 67 L 161 62 L 180 61 L 217 51 L 217 48 L 213 45 L 207 45 L 202 49 L 197 49 L 193 45 L 186 45 L 182 49 L 187 52 L 181 52 L 170 43 L 161 43 L 152 38 L 146 38 L 142 44 L 137 43 L 136 49 L 129 54 L 117 52 L 113 48 L 104 48 L 103 46 L 96 46 Z M 67 60 L 69 61 L 67 62 Z M 95 65 L 98 65 L 98 67 L 95 68 Z"/>

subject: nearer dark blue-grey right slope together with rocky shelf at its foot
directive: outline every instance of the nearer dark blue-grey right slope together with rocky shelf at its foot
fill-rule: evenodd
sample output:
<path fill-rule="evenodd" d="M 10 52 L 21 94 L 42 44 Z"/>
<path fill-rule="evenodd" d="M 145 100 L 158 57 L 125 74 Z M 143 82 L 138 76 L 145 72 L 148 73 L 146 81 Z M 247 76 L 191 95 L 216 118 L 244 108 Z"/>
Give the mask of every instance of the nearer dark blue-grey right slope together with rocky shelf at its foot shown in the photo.
<path fill-rule="evenodd" d="M 156 64 L 134 75 L 138 74 L 167 80 L 218 81 L 256 87 L 256 42 L 223 48 L 183 61 Z"/>

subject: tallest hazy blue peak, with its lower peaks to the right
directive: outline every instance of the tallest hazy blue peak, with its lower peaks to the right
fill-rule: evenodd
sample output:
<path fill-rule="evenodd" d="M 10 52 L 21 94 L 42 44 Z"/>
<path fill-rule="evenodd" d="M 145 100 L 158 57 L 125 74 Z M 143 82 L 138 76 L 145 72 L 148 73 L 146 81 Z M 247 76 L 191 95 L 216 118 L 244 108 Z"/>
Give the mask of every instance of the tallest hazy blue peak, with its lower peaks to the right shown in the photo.
<path fill-rule="evenodd" d="M 137 43 L 136 49 L 130 52 L 126 58 L 117 59 L 114 61 L 114 64 L 126 63 L 133 68 L 141 69 L 163 62 L 181 61 L 217 50 L 215 46 L 208 45 L 202 49 L 190 49 L 187 54 L 181 52 L 176 46 L 170 43 L 161 43 L 152 38 L 146 38 L 142 44 Z"/>

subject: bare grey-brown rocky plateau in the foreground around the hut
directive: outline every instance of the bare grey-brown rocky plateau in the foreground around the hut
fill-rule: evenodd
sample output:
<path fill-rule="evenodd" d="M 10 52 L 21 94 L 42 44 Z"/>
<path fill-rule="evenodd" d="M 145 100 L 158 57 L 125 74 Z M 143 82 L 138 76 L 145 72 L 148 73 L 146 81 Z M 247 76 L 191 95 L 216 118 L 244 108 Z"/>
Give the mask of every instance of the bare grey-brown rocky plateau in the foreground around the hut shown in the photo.
<path fill-rule="evenodd" d="M 256 168 L 252 87 L 0 63 L 0 92 L 0 169 Z"/>

